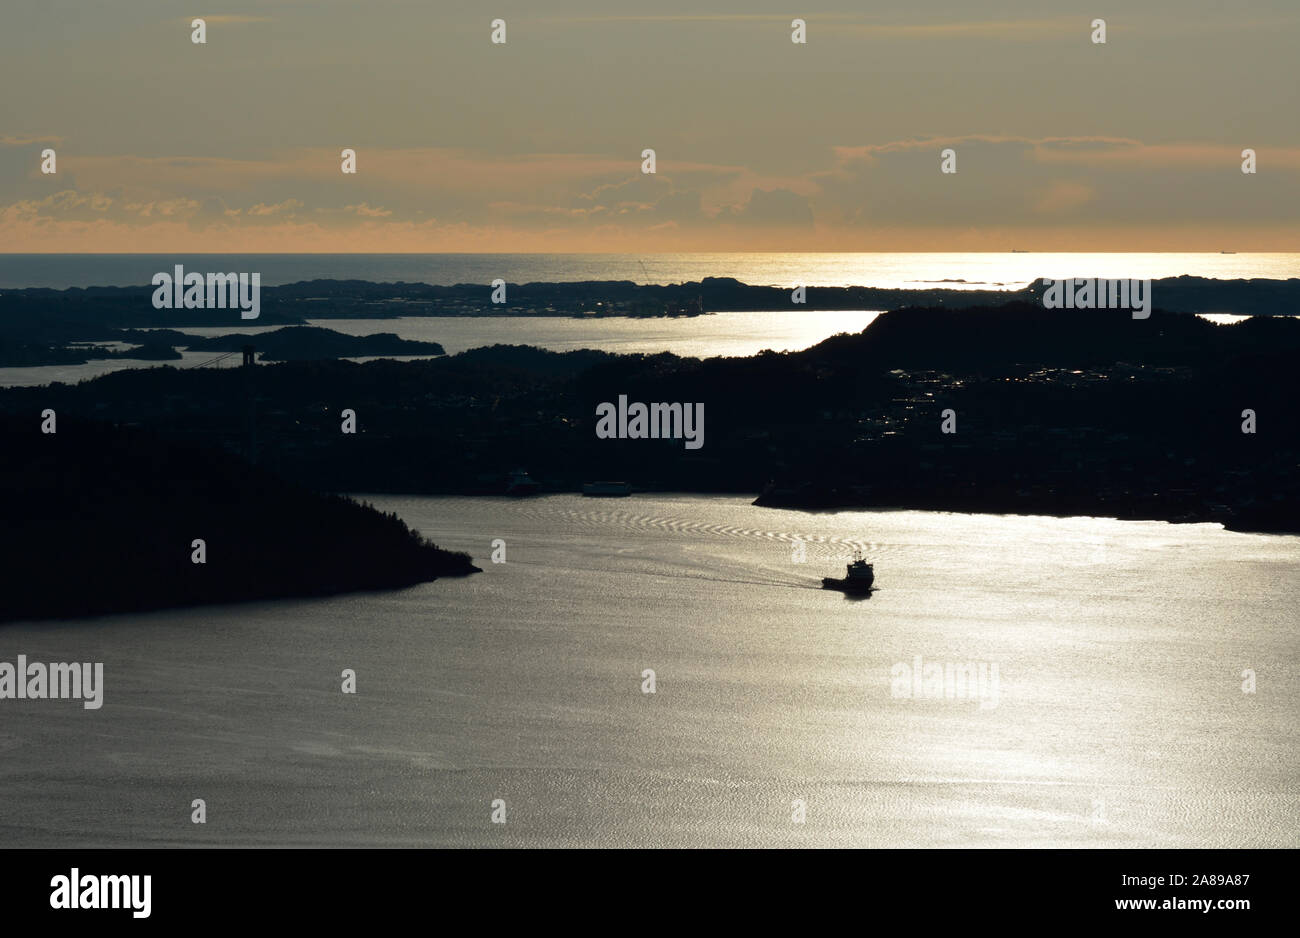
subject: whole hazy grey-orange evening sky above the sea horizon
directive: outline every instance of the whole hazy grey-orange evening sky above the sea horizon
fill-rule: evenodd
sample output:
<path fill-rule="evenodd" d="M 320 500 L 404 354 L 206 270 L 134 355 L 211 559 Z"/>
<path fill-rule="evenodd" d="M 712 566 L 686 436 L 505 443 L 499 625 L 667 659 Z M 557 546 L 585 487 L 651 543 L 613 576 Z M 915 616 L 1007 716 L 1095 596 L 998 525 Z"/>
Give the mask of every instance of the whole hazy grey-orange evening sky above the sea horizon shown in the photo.
<path fill-rule="evenodd" d="M 1300 251 L 1297 51 L 1297 0 L 3 0 L 0 252 Z"/>

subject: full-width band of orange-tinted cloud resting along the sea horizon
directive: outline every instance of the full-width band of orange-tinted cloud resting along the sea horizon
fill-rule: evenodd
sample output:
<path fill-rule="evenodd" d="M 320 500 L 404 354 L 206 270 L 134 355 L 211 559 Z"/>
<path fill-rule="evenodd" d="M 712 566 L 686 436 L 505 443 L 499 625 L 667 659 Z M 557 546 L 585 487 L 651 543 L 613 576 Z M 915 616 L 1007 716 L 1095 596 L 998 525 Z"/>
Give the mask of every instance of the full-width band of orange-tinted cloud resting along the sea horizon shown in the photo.
<path fill-rule="evenodd" d="M 957 174 L 940 171 L 946 148 Z M 0 249 L 1300 249 L 1300 149 L 1261 147 L 1252 177 L 1236 146 L 1104 135 L 846 142 L 780 175 L 675 161 L 642 174 L 640 151 L 378 147 L 344 175 L 339 149 L 69 152 L 57 178 L 22 157 L 0 178 Z"/>

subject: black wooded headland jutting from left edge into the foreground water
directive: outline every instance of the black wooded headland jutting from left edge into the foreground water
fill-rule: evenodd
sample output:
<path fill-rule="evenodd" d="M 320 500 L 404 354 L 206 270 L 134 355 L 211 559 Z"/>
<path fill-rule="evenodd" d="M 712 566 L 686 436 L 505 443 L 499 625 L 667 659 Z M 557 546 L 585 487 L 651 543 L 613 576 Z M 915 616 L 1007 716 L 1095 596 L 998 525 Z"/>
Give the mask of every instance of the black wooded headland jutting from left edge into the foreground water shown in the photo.
<path fill-rule="evenodd" d="M 61 414 L 0 420 L 0 621 L 387 590 L 474 573 L 395 514 L 220 448 Z M 203 542 L 202 559 L 195 540 Z"/>

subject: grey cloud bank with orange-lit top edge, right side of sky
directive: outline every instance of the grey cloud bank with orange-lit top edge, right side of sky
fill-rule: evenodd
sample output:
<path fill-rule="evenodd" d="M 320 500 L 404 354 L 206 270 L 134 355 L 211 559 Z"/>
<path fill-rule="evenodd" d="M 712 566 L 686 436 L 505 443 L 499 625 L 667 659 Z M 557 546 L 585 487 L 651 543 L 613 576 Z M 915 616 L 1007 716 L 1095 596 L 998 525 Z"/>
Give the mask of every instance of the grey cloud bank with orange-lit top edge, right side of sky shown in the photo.
<path fill-rule="evenodd" d="M 940 173 L 940 155 L 949 148 L 957 153 L 956 174 Z M 1269 177 L 1243 177 L 1239 148 L 1106 136 L 970 135 L 838 147 L 835 165 L 811 177 L 820 187 L 812 208 L 822 223 L 855 227 L 1032 229 L 1045 216 L 1080 229 L 1119 230 L 1295 221 L 1297 204 L 1286 194 L 1297 184 L 1300 153 L 1268 149 L 1261 161 L 1264 153 Z"/>

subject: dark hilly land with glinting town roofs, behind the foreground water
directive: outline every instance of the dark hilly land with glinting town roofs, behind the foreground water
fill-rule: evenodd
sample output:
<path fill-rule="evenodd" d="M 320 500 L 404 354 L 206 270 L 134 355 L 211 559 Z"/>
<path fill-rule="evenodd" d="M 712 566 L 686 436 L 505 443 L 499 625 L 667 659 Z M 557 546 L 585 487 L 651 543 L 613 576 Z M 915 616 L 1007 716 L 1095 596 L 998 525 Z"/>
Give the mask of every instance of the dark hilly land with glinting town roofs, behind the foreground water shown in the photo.
<path fill-rule="evenodd" d="M 1148 320 L 1023 301 L 896 309 L 861 334 L 736 359 L 495 346 L 417 361 L 164 366 L 0 390 L 0 413 L 30 427 L 42 408 L 139 422 L 254 452 L 321 491 L 502 494 L 525 466 L 542 491 L 621 479 L 803 509 L 1300 531 L 1300 320 L 1216 325 L 1156 296 Z M 702 401 L 705 446 L 597 438 L 597 405 L 620 394 Z M 339 433 L 344 408 L 354 435 Z"/>

